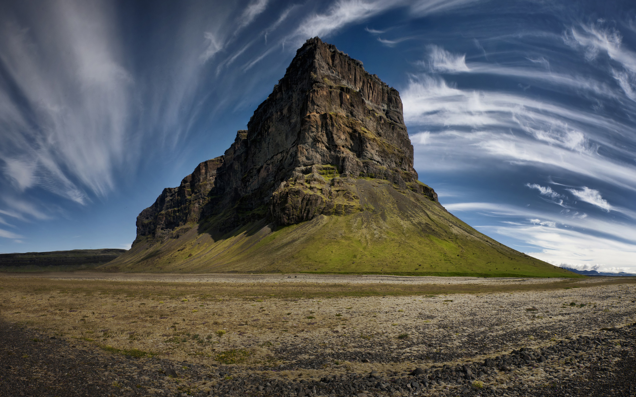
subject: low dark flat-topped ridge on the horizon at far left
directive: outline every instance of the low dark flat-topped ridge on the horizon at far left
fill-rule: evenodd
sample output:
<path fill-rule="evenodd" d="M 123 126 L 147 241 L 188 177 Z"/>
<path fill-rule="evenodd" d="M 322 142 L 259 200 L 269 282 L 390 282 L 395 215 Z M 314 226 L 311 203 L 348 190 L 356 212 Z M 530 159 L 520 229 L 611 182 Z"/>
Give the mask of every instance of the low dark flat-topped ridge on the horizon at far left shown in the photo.
<path fill-rule="evenodd" d="M 52 252 L 0 253 L 0 270 L 9 271 L 67 271 L 88 269 L 106 264 L 126 250 L 71 250 Z"/>

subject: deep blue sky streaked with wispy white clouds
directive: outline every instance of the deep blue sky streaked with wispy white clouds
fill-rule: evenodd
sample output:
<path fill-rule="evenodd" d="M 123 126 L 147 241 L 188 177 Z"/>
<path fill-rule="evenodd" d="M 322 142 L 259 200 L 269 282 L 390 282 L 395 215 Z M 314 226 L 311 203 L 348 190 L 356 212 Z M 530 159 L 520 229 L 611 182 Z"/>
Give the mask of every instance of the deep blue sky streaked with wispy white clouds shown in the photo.
<path fill-rule="evenodd" d="M 0 252 L 128 248 L 319 36 L 401 93 L 420 180 L 547 262 L 636 271 L 630 1 L 6 1 Z"/>

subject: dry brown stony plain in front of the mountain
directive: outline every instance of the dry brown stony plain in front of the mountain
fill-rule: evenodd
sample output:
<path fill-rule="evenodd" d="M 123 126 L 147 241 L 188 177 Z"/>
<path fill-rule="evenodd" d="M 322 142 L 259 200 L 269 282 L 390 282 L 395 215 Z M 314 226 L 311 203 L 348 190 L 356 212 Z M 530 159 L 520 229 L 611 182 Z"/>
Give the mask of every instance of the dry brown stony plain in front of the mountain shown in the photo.
<path fill-rule="evenodd" d="M 632 395 L 626 325 L 636 321 L 635 286 L 632 278 L 3 274 L 0 359 L 12 364 L 0 394 Z M 522 347 L 546 362 L 515 365 L 506 354 Z M 81 394 L 52 370 L 62 361 Z M 590 378 L 590 394 L 583 384 L 595 365 L 604 372 Z M 408 375 L 416 367 L 424 373 Z"/>

